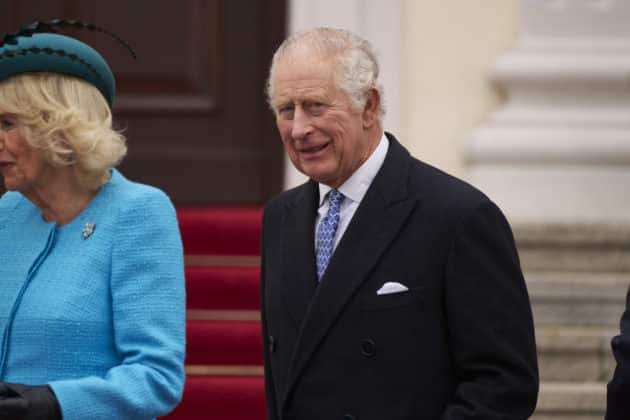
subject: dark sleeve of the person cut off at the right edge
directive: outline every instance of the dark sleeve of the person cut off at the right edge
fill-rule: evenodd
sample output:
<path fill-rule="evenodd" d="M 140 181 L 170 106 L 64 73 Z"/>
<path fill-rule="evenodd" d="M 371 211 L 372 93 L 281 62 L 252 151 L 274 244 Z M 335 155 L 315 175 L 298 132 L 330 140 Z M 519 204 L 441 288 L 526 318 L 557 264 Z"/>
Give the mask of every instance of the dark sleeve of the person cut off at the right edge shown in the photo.
<path fill-rule="evenodd" d="M 630 417 L 630 290 L 621 318 L 621 333 L 612 339 L 612 349 L 617 367 L 608 383 L 606 420 L 627 420 Z"/>

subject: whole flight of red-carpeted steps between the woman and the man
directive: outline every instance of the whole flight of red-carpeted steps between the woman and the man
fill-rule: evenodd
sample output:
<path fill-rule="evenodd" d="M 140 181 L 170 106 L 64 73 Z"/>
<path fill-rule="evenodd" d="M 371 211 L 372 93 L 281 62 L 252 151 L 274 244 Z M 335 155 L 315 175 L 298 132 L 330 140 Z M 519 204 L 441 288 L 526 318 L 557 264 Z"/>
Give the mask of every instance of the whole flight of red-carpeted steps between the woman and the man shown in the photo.
<path fill-rule="evenodd" d="M 264 420 L 260 271 L 252 266 L 261 209 L 177 214 L 187 257 L 187 376 L 182 402 L 161 419 Z"/>

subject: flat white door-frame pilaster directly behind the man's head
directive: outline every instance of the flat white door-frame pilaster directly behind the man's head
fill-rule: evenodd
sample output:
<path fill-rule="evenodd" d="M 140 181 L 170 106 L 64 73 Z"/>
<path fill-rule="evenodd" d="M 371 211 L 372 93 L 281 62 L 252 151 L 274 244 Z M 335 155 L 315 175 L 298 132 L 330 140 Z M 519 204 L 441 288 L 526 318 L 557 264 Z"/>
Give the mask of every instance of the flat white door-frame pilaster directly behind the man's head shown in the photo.
<path fill-rule="evenodd" d="M 288 32 L 317 26 L 347 29 L 372 43 L 379 55 L 387 113 L 384 126 L 400 127 L 401 0 L 290 0 Z M 306 180 L 285 163 L 285 187 Z"/>

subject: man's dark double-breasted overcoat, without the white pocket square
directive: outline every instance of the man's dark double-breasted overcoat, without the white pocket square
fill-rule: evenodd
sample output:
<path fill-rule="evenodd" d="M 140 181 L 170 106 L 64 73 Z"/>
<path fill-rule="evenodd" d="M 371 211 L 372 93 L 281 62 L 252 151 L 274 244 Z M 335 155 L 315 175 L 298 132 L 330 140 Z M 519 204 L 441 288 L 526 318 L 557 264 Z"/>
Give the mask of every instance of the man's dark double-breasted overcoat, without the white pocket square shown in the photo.
<path fill-rule="evenodd" d="M 510 227 L 481 192 L 388 139 L 321 283 L 317 183 L 265 208 L 268 418 L 527 418 L 536 346 Z M 378 296 L 390 281 L 409 291 Z"/>

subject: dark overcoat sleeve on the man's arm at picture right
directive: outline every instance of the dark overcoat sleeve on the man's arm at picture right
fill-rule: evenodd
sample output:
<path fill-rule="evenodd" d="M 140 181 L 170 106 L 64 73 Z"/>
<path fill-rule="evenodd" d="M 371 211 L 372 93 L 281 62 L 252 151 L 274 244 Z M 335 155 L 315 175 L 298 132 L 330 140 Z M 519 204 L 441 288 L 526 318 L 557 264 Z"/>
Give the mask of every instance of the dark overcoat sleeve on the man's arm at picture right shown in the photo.
<path fill-rule="evenodd" d="M 445 300 L 460 380 L 442 419 L 529 418 L 538 396 L 531 307 L 511 229 L 490 201 L 456 230 Z"/>

